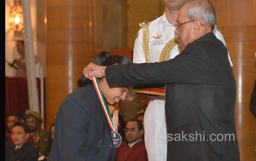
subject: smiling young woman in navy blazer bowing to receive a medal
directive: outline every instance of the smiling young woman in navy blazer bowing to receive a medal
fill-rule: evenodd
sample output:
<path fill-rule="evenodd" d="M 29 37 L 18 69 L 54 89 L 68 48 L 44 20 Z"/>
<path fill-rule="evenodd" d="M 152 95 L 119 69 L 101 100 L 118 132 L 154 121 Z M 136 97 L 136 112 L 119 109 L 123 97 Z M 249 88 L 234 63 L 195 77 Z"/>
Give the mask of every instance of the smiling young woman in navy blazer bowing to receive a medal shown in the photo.
<path fill-rule="evenodd" d="M 101 51 L 92 63 L 108 66 L 132 61 Z M 105 77 L 89 80 L 84 75 L 77 83 L 80 88 L 65 98 L 57 112 L 48 161 L 114 160 L 115 147 L 122 141 L 117 129 L 119 108 L 115 107 L 112 119 L 108 104 L 124 100 L 132 86 L 109 88 Z"/>

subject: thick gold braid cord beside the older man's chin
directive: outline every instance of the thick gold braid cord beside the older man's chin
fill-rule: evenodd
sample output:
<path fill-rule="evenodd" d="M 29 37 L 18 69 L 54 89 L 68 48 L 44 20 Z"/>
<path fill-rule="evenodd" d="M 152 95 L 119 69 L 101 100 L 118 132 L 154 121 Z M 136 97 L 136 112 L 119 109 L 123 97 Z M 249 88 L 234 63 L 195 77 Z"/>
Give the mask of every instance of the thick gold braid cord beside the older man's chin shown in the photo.
<path fill-rule="evenodd" d="M 167 61 L 170 59 L 170 52 L 176 46 L 178 42 L 176 41 L 176 37 L 174 36 L 169 42 L 167 42 L 160 54 L 160 58 L 158 62 Z"/>

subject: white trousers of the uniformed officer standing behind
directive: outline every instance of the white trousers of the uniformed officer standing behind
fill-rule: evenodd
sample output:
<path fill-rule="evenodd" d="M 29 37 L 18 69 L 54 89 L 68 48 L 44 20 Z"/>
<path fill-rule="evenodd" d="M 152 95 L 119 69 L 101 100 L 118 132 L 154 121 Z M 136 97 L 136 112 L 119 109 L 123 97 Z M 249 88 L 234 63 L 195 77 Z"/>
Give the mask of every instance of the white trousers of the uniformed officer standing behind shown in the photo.
<path fill-rule="evenodd" d="M 164 100 L 152 100 L 144 114 L 144 138 L 149 161 L 167 158 L 167 126 Z"/>

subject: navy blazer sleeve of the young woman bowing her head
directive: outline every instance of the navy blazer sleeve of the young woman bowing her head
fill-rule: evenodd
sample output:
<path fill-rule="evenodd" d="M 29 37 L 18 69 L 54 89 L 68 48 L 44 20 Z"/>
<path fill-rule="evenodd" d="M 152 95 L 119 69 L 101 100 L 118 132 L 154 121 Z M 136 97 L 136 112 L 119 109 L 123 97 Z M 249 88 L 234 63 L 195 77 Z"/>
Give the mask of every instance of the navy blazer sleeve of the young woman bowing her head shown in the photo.
<path fill-rule="evenodd" d="M 85 109 L 87 108 L 87 109 Z M 81 99 L 65 101 L 56 116 L 59 125 L 57 130 L 57 150 L 63 161 L 86 160 L 88 153 L 88 127 L 91 122 L 89 105 Z M 53 147 L 56 148 L 56 147 Z"/>

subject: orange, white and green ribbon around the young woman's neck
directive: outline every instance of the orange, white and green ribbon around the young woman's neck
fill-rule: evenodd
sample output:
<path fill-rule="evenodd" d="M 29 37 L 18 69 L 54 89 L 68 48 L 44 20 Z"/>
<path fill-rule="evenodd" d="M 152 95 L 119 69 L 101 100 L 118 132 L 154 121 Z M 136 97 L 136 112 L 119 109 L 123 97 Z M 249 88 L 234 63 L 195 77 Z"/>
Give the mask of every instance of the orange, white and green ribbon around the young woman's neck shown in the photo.
<path fill-rule="evenodd" d="M 96 90 L 96 92 L 97 92 L 97 94 L 98 94 L 98 97 L 99 97 L 99 100 L 100 100 L 100 102 L 101 102 L 103 111 L 104 111 L 104 113 L 105 113 L 105 115 L 106 115 L 106 118 L 107 118 L 107 120 L 108 120 L 108 124 L 109 124 L 109 126 L 110 126 L 112 132 L 114 132 L 114 131 L 115 131 L 115 126 L 114 126 L 113 120 L 112 120 L 112 118 L 111 118 L 109 109 L 107 108 L 106 102 L 105 102 L 105 100 L 104 100 L 104 98 L 103 98 L 103 96 L 102 96 L 101 89 L 99 88 L 98 79 L 95 78 L 94 76 L 92 76 L 92 82 L 93 82 L 94 87 L 95 87 L 95 90 Z"/>

